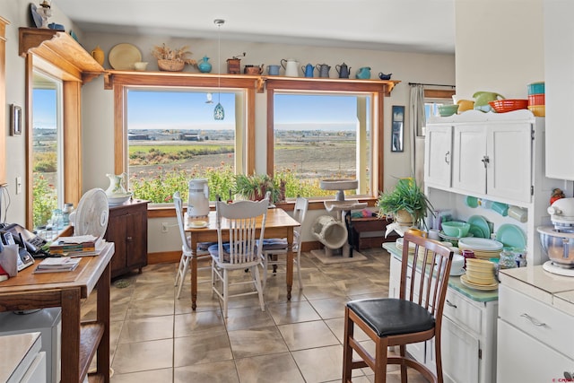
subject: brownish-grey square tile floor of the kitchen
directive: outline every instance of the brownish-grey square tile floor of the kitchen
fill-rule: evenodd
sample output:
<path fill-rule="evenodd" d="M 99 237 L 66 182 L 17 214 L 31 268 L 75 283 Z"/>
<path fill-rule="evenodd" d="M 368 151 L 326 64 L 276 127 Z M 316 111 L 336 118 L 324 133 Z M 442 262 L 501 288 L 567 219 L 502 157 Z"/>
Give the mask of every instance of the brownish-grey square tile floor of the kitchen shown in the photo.
<path fill-rule="evenodd" d="M 382 248 L 361 251 L 367 260 L 324 265 L 301 254 L 303 290 L 294 275 L 291 301 L 284 274 L 265 287 L 265 312 L 257 295 L 230 300 L 228 319 L 212 298 L 208 270 L 199 273 L 197 309 L 192 311 L 189 276 L 181 299 L 174 288 L 176 264 L 149 265 L 143 274 L 112 281 L 111 381 L 125 382 L 331 382 L 341 381 L 344 304 L 387 296 L 389 255 Z M 280 270 L 281 271 L 281 270 Z M 242 275 L 243 274 L 243 275 Z M 248 274 L 239 272 L 239 278 Z M 95 316 L 95 294 L 83 304 Z M 365 343 L 370 343 L 364 335 Z M 390 368 L 389 368 L 390 369 Z M 389 370 L 390 371 L 390 370 Z M 371 382 L 369 369 L 353 382 Z M 417 372 L 409 381 L 426 381 Z M 397 370 L 389 382 L 399 381 Z"/>

